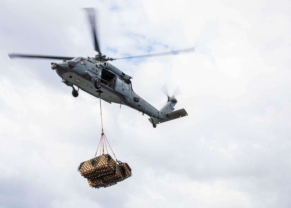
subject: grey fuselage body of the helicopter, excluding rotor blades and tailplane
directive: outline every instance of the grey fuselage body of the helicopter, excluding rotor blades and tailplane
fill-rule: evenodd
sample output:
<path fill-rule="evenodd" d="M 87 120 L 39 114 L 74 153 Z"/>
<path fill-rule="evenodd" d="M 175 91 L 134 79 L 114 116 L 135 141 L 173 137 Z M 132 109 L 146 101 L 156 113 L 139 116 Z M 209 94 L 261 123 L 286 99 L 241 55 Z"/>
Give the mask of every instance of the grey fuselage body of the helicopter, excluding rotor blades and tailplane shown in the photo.
<path fill-rule="evenodd" d="M 58 64 L 54 62 L 51 64 L 52 69 L 55 69 L 56 73 L 63 79 L 62 82 L 70 87 L 76 86 L 108 103 L 127 105 L 151 118 L 167 119 L 165 113 L 157 110 L 132 90 L 130 81 L 132 77 L 125 75 L 107 62 L 101 63 L 94 59 L 77 57 L 71 61 L 64 60 Z M 96 89 L 95 86 L 97 82 L 100 83 L 99 89 Z M 72 93 L 74 95 L 74 88 Z M 172 97 L 172 101 L 169 102 L 171 102 L 170 108 L 173 111 L 177 100 Z"/>

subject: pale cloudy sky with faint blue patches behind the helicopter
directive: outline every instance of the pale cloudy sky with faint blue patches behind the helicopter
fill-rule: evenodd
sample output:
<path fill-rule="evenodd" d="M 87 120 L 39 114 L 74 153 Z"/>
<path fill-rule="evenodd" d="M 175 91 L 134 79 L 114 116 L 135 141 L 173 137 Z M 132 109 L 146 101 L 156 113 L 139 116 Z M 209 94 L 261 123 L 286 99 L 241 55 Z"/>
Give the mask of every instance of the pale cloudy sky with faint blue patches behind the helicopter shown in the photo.
<path fill-rule="evenodd" d="M 101 138 L 99 100 L 71 87 L 50 59 L 116 60 L 160 109 L 179 87 L 188 116 L 153 128 L 127 106 L 102 104 L 104 133 L 132 177 L 101 189 L 77 168 Z M 0 12 L 0 208 L 290 207 L 290 1 L 3 1 Z M 112 153 L 109 151 L 109 154 Z"/>

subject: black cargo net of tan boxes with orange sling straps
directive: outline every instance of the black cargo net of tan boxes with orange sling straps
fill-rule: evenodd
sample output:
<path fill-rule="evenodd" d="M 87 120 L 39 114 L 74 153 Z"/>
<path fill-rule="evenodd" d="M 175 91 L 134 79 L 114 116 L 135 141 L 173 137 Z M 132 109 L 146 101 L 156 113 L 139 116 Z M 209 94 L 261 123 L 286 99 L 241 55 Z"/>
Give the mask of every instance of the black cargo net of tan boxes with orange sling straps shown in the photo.
<path fill-rule="evenodd" d="M 110 145 L 109 147 L 116 161 L 108 154 L 106 142 L 109 145 L 102 129 L 101 139 L 97 148 L 98 152 L 100 147 L 100 156 L 96 156 L 96 152 L 94 158 L 82 162 L 78 168 L 78 171 L 88 180 L 89 186 L 92 188 L 106 188 L 132 176 L 129 165 L 116 159 Z M 107 154 L 104 154 L 104 144 Z M 101 149 L 103 149 L 102 154 Z"/>

